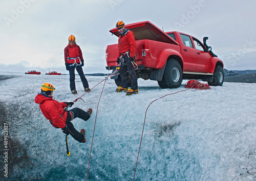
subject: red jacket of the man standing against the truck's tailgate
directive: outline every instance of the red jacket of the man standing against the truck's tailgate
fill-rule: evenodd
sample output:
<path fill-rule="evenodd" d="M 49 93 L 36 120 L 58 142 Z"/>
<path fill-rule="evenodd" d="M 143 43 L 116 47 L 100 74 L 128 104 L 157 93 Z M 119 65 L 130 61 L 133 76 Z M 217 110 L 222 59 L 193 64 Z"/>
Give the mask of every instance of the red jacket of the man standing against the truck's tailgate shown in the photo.
<path fill-rule="evenodd" d="M 134 57 L 136 51 L 136 42 L 133 31 L 128 31 L 125 35 L 120 35 L 118 38 L 118 57 L 121 54 L 130 51 L 130 57 Z"/>

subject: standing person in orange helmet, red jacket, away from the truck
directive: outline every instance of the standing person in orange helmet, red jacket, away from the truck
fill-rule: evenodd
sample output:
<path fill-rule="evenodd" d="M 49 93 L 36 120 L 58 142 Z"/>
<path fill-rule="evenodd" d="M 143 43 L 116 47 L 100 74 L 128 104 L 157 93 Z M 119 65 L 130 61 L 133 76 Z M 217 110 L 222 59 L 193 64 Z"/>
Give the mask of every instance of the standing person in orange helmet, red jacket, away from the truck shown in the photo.
<path fill-rule="evenodd" d="M 76 38 L 74 37 L 74 35 L 69 36 L 69 44 L 64 49 L 64 58 L 66 70 L 69 71 L 70 89 L 72 94 L 77 94 L 75 85 L 75 69 L 80 76 L 84 91 L 91 92 L 88 81 L 82 71 L 82 66 L 84 64 L 84 60 L 82 58 L 82 51 L 80 47 L 76 44 Z"/>

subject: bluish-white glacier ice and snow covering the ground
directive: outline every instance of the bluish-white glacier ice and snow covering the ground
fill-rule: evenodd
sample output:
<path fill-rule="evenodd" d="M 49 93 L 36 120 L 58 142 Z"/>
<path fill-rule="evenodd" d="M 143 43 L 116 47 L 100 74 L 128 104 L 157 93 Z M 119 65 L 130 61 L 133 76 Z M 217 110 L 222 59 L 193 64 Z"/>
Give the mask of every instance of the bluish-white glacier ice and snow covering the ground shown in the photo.
<path fill-rule="evenodd" d="M 54 99 L 74 101 L 84 94 L 79 76 L 78 95 L 71 94 L 68 75 L 2 72 L 0 76 L 16 76 L 0 81 L 1 128 L 8 123 L 12 153 L 8 178 L 85 180 L 103 82 L 82 97 L 85 103 L 78 100 L 73 105 L 90 107 L 93 114 L 87 122 L 73 120 L 77 130 L 86 129 L 87 142 L 69 136 L 67 156 L 65 134 L 46 120 L 34 97 L 48 82 L 56 87 Z M 92 88 L 104 77 L 87 79 Z M 139 94 L 125 96 L 115 92 L 114 80 L 106 80 L 88 180 L 132 180 L 147 106 L 184 90 L 186 82 L 162 89 L 156 81 L 138 79 Z M 210 90 L 189 89 L 153 102 L 146 114 L 135 180 L 256 180 L 255 88 L 256 84 L 224 82 Z M 4 131 L 1 134 L 2 141 Z"/>

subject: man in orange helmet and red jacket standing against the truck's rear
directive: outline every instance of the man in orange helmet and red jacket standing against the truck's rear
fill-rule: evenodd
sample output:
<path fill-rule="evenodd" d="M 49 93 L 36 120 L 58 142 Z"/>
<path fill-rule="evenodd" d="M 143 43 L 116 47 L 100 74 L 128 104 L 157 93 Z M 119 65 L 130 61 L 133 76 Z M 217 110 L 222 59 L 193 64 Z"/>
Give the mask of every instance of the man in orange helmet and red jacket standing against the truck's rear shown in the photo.
<path fill-rule="evenodd" d="M 123 21 L 117 22 L 116 29 L 120 34 L 118 38 L 119 51 L 117 63 L 120 65 L 119 72 L 121 76 L 121 86 L 116 89 L 116 92 L 122 92 L 124 90 L 126 95 L 138 94 L 139 89 L 134 66 L 136 42 L 133 31 L 126 29 Z M 132 79 L 131 89 L 128 89 L 127 71 Z"/>

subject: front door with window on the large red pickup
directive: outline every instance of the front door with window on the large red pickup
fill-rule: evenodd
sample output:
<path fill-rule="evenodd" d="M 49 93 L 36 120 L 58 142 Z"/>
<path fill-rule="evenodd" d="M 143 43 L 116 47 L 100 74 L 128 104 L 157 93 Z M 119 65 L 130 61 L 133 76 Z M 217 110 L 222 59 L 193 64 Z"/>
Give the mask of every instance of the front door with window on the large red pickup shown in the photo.
<path fill-rule="evenodd" d="M 193 42 L 197 51 L 196 71 L 207 73 L 210 69 L 211 56 L 206 48 L 203 46 L 203 43 L 201 43 L 198 39 L 193 37 Z"/>

